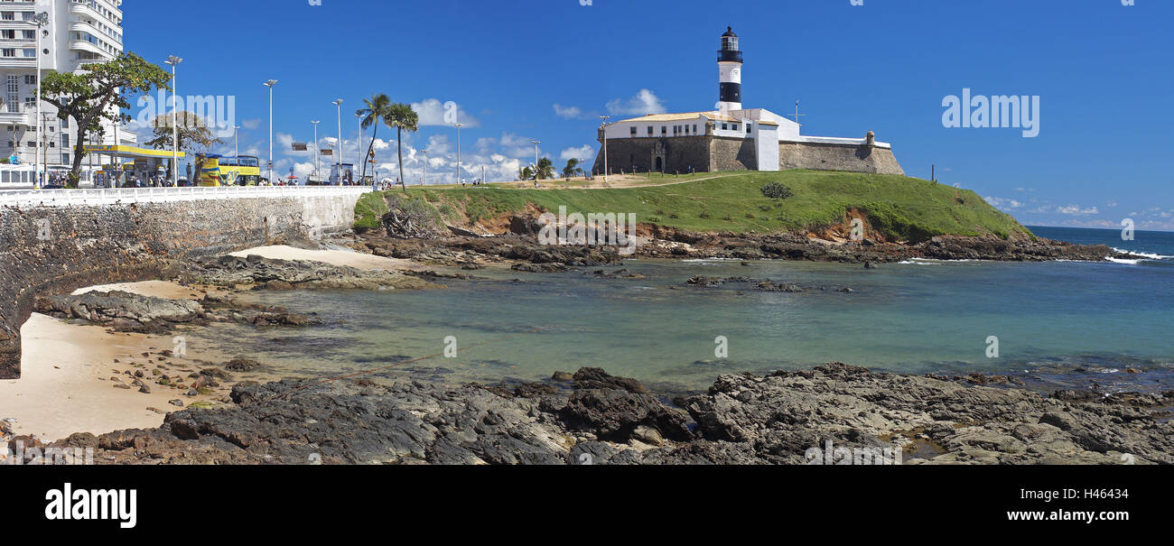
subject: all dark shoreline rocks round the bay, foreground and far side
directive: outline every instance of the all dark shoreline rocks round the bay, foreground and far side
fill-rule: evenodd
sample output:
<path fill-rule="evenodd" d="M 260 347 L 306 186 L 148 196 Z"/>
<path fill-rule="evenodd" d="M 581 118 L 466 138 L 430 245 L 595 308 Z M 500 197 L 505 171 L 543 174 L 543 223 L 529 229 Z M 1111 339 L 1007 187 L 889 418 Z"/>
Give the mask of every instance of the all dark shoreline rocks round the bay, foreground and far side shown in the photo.
<path fill-rule="evenodd" d="M 402 238 L 367 232 L 333 243 L 464 270 L 500 265 L 556 272 L 620 265 L 628 257 L 609 247 L 541 245 L 529 223 L 512 224 L 520 225 L 519 232 L 493 237 L 433 232 L 429 238 Z M 668 238 L 643 241 L 637 257 L 865 267 L 911 258 L 1128 257 L 1107 247 L 1027 238 L 936 237 L 906 245 L 868 240 L 832 243 L 797 234 L 654 235 Z M 432 289 L 444 288 L 441 281 L 473 278 L 443 270 L 357 269 L 259 256 L 197 258 L 177 264 L 168 275 L 205 294 L 198 299 L 167 299 L 87 292 L 38 298 L 35 306 L 116 332 L 169 333 L 215 322 L 302 328 L 319 323 L 312 315 L 242 303 L 234 292 Z M 594 275 L 639 277 L 622 269 Z M 851 291 L 750 277 L 696 276 L 686 287 L 726 283 L 783 292 Z M 836 449 L 865 457 L 896 452 L 905 464 L 1174 464 L 1168 419 L 1174 391 L 1048 395 L 1023 389 L 1014 378 L 902 376 L 839 363 L 765 377 L 722 376 L 706 393 L 650 392 L 634 379 L 589 368 L 555 373 L 542 383 L 508 385 L 385 378 L 259 384 L 252 379 L 274 376 L 238 373 L 258 368 L 254 360 L 176 365 L 164 362 L 170 357 L 166 352 L 143 355 L 157 362 L 137 363 L 123 370 L 129 377 L 112 377 L 112 384 L 148 393 L 154 386 L 188 397 L 215 396 L 218 402 L 168 413 L 157 429 L 79 433 L 50 446 L 93 447 L 101 464 L 809 464 L 822 457 L 812 456 L 812 450 L 836 453 Z M 232 375 L 242 383 L 234 385 Z M 182 407 L 183 402 L 175 399 L 173 405 Z M 32 437 L 4 439 L 13 446 L 40 444 Z M 835 460 L 829 457 L 821 460 Z"/>

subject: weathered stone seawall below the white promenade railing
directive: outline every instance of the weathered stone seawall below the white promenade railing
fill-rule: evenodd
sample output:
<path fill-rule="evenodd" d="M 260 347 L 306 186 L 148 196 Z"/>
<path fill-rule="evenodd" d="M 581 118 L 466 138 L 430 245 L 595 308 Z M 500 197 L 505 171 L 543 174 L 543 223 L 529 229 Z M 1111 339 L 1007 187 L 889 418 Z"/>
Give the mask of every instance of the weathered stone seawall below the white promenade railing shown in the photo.
<path fill-rule="evenodd" d="M 0 209 L 0 379 L 36 295 L 158 278 L 177 259 L 349 229 L 359 193 Z"/>

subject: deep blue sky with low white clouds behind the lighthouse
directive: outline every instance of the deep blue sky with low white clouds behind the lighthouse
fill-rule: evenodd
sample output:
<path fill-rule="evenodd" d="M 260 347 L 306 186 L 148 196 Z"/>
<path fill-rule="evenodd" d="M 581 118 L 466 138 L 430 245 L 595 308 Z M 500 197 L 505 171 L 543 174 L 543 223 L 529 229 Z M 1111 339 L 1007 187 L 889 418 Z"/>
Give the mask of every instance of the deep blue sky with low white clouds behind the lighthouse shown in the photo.
<path fill-rule="evenodd" d="M 372 93 L 418 105 L 405 169 L 451 182 L 456 102 L 464 176 L 491 180 L 533 162 L 532 139 L 561 168 L 594 159 L 598 115 L 711 109 L 715 52 L 733 26 L 747 65 L 743 100 L 781 114 L 802 101 L 803 134 L 892 142 L 911 176 L 974 189 L 1024 223 L 1174 230 L 1174 2 L 1136 0 L 131 0 L 126 46 L 184 58 L 180 94 L 236 100 L 242 153 L 268 155 L 275 93 L 277 170 L 304 174 L 291 141 L 337 134 L 348 161 L 355 110 Z M 168 6 L 164 8 L 164 6 Z M 197 12 L 205 13 L 198 15 Z M 171 23 L 178 21 L 178 26 Z M 1039 135 L 946 128 L 943 99 L 1039 95 Z M 136 115 L 136 113 L 131 113 Z M 370 137 L 370 133 L 366 134 Z M 380 129 L 382 175 L 396 166 Z M 231 151 L 232 139 L 225 139 Z M 365 150 L 365 144 L 364 144 Z M 329 162 L 329 160 L 326 160 Z"/>

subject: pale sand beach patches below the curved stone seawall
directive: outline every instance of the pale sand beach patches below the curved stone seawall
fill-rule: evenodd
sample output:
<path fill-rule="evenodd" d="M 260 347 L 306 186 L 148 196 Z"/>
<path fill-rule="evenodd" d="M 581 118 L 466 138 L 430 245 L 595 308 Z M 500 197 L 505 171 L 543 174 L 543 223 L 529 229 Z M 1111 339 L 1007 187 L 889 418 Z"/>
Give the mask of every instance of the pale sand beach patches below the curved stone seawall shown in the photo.
<path fill-rule="evenodd" d="M 358 252 L 292 247 L 263 247 L 236 255 L 317 261 L 359 269 L 402 269 L 410 264 Z M 168 281 L 104 284 L 74 294 L 115 290 L 171 299 L 204 296 L 204 290 Z M 33 314 L 21 328 L 21 378 L 0 380 L 0 419 L 16 419 L 14 432 L 18 434 L 55 440 L 75 432 L 102 434 L 122 429 L 156 427 L 167 412 L 181 410 L 170 400 L 180 399 L 188 406 L 196 402 L 217 402 L 227 392 L 222 389 L 214 395 L 188 397 L 185 387 L 170 389 L 155 383 L 151 369 L 161 365 L 167 366 L 162 373 L 191 383 L 188 373 L 231 358 L 218 355 L 216 348 L 197 348 L 191 343 L 185 345 L 187 358 L 164 357 L 162 351 L 174 348 L 171 336 L 112 333 L 104 326 L 70 324 Z M 126 372 L 136 370 L 143 370 L 142 380 L 150 393 L 139 392 L 137 387 L 114 386 L 130 386 L 135 377 Z"/>

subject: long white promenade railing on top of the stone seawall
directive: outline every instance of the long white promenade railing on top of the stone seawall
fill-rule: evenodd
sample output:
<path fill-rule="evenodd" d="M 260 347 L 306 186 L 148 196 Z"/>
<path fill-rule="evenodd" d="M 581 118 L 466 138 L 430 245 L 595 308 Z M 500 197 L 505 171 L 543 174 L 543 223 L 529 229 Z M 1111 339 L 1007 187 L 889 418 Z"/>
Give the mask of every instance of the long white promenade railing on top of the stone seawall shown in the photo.
<path fill-rule="evenodd" d="M 225 186 L 218 188 L 26 189 L 0 191 L 0 207 L 100 207 L 131 203 L 239 200 L 258 197 L 326 197 L 362 195 L 370 186 Z"/>

